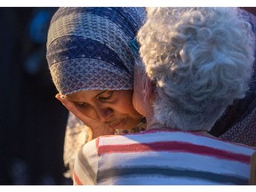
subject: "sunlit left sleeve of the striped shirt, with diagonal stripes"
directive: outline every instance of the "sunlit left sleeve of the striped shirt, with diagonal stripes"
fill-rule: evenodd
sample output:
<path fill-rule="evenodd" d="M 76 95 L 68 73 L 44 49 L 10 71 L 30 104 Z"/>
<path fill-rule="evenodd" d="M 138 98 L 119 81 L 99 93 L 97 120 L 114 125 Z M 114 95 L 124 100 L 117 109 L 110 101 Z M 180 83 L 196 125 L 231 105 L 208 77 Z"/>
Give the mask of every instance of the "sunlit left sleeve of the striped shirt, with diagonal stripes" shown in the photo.
<path fill-rule="evenodd" d="M 73 184 L 95 185 L 97 184 L 98 171 L 98 139 L 91 140 L 81 148 L 75 158 Z"/>

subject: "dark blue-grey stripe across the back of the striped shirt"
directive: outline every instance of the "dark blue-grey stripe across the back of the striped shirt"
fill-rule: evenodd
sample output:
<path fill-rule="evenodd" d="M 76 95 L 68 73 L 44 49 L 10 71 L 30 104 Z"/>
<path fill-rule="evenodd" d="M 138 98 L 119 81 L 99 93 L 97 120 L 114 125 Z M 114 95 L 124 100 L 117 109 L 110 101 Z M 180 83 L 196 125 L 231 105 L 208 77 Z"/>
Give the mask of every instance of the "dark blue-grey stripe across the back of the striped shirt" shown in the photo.
<path fill-rule="evenodd" d="M 248 179 L 242 178 L 242 177 L 236 177 L 233 175 L 228 174 L 218 174 L 213 172 L 202 172 L 202 171 L 193 171 L 193 170 L 179 170 L 179 169 L 172 169 L 168 167 L 156 167 L 156 166 L 148 166 L 148 167 L 118 167 L 118 168 L 112 168 L 104 171 L 98 172 L 98 183 L 100 183 L 103 180 L 113 178 L 113 177 L 125 177 L 125 176 L 132 176 L 134 177 L 134 180 L 137 180 L 137 183 L 140 183 L 138 181 L 140 176 L 148 176 L 148 177 L 177 177 L 177 178 L 191 178 L 191 179 L 199 179 L 199 180 L 211 180 L 216 183 L 220 184 L 236 184 L 236 185 L 244 185 L 248 184 Z M 140 179 L 139 179 L 140 180 Z M 128 183 L 127 183 L 128 184 Z M 131 183 L 132 184 L 132 183 Z M 152 184 L 156 185 L 157 183 L 154 183 L 154 180 L 152 180 Z M 175 184 L 175 183 L 166 183 L 166 185 Z M 184 183 L 186 184 L 186 183 Z M 200 184 L 196 182 L 195 184 Z"/>

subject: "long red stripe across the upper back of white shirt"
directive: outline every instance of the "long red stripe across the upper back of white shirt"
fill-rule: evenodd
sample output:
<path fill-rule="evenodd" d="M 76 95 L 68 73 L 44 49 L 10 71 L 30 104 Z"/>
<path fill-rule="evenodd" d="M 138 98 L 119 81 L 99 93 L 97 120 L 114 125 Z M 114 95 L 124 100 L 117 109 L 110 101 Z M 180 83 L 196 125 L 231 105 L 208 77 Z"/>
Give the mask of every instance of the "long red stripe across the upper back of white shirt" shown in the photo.
<path fill-rule="evenodd" d="M 187 152 L 205 156 L 215 156 L 216 158 L 220 159 L 228 159 L 243 162 L 244 164 L 250 164 L 250 156 L 236 154 L 218 148 L 210 148 L 179 141 L 162 141 L 128 145 L 106 145 L 99 147 L 99 155 L 108 153 L 140 153 L 147 151 Z"/>

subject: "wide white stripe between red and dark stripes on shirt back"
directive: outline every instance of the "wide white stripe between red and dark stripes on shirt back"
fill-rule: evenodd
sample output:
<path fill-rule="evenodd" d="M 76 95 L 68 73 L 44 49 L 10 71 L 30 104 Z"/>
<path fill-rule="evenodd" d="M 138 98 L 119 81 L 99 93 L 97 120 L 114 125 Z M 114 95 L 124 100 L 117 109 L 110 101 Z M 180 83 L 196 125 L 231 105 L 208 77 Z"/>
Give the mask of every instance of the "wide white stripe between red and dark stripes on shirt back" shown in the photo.
<path fill-rule="evenodd" d="M 120 161 L 120 159 L 122 161 Z M 239 175 L 249 177 L 249 164 L 237 161 L 217 159 L 189 153 L 140 152 L 105 154 L 100 156 L 99 171 L 122 166 L 160 166 L 163 168 L 188 169 L 202 172 Z"/>

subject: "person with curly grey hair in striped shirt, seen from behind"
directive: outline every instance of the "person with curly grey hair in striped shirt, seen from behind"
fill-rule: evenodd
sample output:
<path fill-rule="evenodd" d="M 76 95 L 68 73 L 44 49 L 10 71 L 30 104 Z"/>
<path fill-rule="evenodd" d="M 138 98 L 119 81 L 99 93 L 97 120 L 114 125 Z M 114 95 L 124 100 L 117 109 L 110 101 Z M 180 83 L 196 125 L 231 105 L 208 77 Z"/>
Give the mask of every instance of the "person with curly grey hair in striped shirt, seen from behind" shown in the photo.
<path fill-rule="evenodd" d="M 256 148 L 208 131 L 249 88 L 250 24 L 236 8 L 148 8 L 138 40 L 133 105 L 147 130 L 86 143 L 74 183 L 248 184 Z"/>

